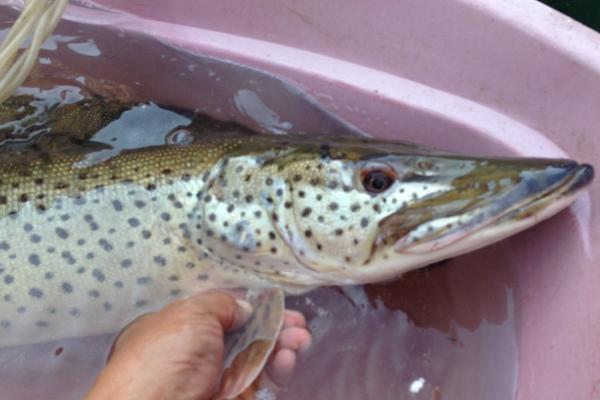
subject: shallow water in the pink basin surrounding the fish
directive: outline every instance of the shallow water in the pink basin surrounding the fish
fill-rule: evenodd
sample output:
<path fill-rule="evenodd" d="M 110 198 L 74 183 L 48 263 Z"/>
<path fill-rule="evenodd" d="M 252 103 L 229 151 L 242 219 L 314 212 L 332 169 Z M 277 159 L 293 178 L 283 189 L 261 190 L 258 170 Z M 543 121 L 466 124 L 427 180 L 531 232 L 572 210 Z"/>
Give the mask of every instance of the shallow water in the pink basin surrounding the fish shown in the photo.
<path fill-rule="evenodd" d="M 285 82 L 240 66 L 232 69 L 215 60 L 194 60 L 174 50 L 165 55 L 167 50 L 158 44 L 161 54 L 157 57 L 171 65 L 167 70 L 184 66 L 190 82 L 204 88 L 204 94 L 198 90 L 194 96 L 218 93 L 227 101 L 207 102 L 196 112 L 151 102 L 124 105 L 123 101 L 140 97 L 161 103 L 165 97 L 147 96 L 154 86 L 143 74 L 127 85 L 79 71 L 90 57 L 110 51 L 95 40 L 98 28 L 67 25 L 64 29 L 54 39 L 55 49 L 48 48 L 40 55 L 28 88 L 20 91 L 35 99 L 26 98 L 20 113 L 0 113 L 0 157 L 85 151 L 91 162 L 101 162 L 121 149 L 179 140 L 181 131 L 246 129 L 222 120 L 278 133 L 314 132 L 318 127 L 323 132 L 315 133 L 356 133 L 353 127 L 319 111 Z M 65 39 L 73 35 L 76 39 Z M 129 40 L 137 43 L 138 39 Z M 81 43 L 93 43 L 98 53 L 85 46 L 87 50 L 82 51 Z M 62 61 L 64 52 L 70 52 L 69 66 Z M 79 58 L 83 61 L 73 61 Z M 190 65 L 195 65 L 193 71 Z M 226 88 L 219 83 L 239 74 L 244 79 L 234 85 L 231 80 Z M 206 83 L 209 78 L 210 84 Z M 82 114 L 77 111 L 81 107 L 94 112 Z M 299 118 L 303 112 L 313 117 L 306 119 L 310 122 Z M 518 349 L 510 254 L 509 247 L 500 243 L 394 282 L 323 288 L 289 298 L 288 306 L 307 316 L 313 346 L 277 398 L 514 398 Z M 494 266 L 490 259 L 495 260 Z M 111 341 L 111 336 L 102 336 L 0 349 L 3 397 L 81 398 L 101 368 Z"/>

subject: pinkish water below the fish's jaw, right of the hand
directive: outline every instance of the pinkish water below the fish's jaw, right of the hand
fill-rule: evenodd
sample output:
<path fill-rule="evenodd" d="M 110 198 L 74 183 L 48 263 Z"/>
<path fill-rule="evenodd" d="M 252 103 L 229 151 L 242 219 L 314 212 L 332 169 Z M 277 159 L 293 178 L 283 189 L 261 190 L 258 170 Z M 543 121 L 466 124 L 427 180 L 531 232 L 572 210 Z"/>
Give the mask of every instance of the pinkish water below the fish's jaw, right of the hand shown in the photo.
<path fill-rule="evenodd" d="M 314 341 L 280 398 L 514 398 L 511 264 L 500 243 L 387 284 L 290 299 Z"/>

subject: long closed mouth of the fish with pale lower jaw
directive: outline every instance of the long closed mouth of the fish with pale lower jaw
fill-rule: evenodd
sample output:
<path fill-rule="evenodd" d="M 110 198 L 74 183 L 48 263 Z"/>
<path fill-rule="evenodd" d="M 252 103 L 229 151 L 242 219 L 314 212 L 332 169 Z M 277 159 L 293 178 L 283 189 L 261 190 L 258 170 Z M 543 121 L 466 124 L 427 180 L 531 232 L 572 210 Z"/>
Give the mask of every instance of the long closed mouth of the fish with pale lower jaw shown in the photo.
<path fill-rule="evenodd" d="M 594 168 L 565 160 L 521 176 L 511 190 L 474 201 L 472 206 L 450 207 L 437 214 L 413 209 L 416 215 L 421 212 L 422 218 L 413 218 L 416 221 L 408 226 L 397 225 L 407 216 L 406 211 L 399 211 L 381 222 L 383 235 L 376 240 L 390 243 L 390 238 L 395 239 L 393 248 L 398 254 L 434 252 L 462 241 L 469 242 L 469 250 L 479 248 L 568 207 L 593 180 Z M 462 249 L 464 245 L 456 247 Z"/>

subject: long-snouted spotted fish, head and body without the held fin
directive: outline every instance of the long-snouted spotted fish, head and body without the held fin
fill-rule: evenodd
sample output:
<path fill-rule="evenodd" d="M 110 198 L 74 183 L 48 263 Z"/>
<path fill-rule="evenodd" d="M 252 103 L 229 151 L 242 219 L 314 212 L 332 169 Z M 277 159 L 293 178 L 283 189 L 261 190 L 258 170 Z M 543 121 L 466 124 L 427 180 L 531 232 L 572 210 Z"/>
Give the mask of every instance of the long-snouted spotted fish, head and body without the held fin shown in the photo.
<path fill-rule="evenodd" d="M 6 158 L 0 346 L 115 332 L 210 288 L 390 279 L 551 216 L 592 176 L 570 160 L 234 133 L 98 164 Z"/>

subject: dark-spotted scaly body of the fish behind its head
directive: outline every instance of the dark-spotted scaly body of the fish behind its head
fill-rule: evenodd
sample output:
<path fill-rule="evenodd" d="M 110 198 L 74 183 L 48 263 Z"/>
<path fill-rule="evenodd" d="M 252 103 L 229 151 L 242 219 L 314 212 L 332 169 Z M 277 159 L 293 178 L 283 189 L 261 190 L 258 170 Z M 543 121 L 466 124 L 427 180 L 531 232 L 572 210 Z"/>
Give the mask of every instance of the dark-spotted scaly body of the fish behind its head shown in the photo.
<path fill-rule="evenodd" d="M 114 332 L 174 297 L 232 286 L 186 232 L 203 173 L 234 146 L 3 166 L 0 345 Z"/>

